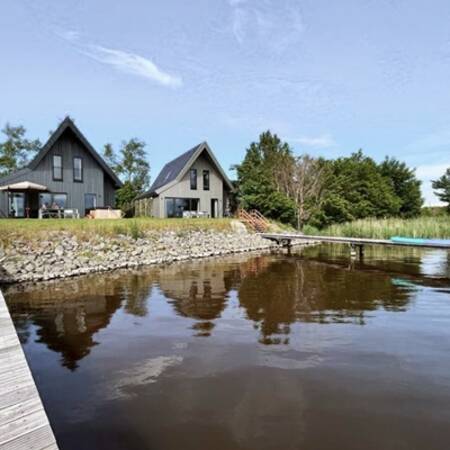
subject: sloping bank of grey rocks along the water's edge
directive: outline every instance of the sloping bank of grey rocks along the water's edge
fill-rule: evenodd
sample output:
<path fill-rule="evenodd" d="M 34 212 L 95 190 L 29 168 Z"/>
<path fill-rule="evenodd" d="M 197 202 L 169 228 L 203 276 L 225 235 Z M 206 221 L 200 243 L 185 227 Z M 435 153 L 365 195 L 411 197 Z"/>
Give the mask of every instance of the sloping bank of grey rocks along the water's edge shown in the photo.
<path fill-rule="evenodd" d="M 46 281 L 94 272 L 278 248 L 243 231 L 154 231 L 80 239 L 68 232 L 15 238 L 0 249 L 0 283 Z"/>

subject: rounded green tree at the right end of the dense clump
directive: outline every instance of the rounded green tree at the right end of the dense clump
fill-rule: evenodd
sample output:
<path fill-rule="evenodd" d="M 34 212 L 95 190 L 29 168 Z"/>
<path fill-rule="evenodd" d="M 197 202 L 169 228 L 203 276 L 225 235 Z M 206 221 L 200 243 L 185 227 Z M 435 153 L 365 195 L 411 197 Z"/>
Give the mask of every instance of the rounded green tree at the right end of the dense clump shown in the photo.
<path fill-rule="evenodd" d="M 423 198 L 421 182 L 416 178 L 415 170 L 395 158 L 388 158 L 379 166 L 381 175 L 389 180 L 395 195 L 400 200 L 400 216 L 416 217 L 420 214 Z"/>

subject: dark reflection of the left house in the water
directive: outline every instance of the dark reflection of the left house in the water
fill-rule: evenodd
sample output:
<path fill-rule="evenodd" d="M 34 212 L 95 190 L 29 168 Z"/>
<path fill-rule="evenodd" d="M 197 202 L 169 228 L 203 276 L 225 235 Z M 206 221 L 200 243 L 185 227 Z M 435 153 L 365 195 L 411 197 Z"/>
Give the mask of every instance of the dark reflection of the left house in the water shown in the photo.
<path fill-rule="evenodd" d="M 60 353 L 61 365 L 70 370 L 97 344 L 94 334 L 109 325 L 120 305 L 121 295 L 102 277 L 94 284 L 80 279 L 38 285 L 16 293 L 9 304 L 22 343 L 34 325 L 36 341 Z"/>

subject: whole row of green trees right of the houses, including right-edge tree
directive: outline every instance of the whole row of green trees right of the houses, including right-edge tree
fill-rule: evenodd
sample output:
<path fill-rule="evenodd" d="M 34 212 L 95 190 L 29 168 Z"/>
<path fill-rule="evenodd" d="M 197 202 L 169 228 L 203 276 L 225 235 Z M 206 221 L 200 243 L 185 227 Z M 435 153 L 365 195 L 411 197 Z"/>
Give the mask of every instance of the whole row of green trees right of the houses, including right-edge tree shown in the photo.
<path fill-rule="evenodd" d="M 296 156 L 270 131 L 250 144 L 235 166 L 238 203 L 301 229 L 367 217 L 411 218 L 421 213 L 421 182 L 396 158 L 377 163 L 359 150 L 337 159 Z M 433 181 L 450 212 L 450 168 Z"/>

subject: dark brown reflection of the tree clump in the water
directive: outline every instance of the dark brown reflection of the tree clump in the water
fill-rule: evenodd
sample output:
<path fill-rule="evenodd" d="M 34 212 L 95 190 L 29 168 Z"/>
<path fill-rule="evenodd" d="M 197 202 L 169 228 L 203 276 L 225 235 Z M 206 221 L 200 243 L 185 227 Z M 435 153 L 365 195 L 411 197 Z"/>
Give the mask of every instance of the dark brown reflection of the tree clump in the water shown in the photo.
<path fill-rule="evenodd" d="M 373 277 L 295 255 L 249 274 L 239 287 L 240 304 L 258 325 L 264 344 L 288 343 L 296 321 L 364 325 L 367 311 L 404 311 L 408 298 L 388 275 Z"/>

